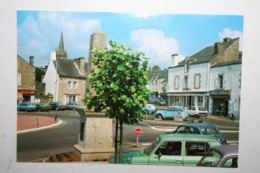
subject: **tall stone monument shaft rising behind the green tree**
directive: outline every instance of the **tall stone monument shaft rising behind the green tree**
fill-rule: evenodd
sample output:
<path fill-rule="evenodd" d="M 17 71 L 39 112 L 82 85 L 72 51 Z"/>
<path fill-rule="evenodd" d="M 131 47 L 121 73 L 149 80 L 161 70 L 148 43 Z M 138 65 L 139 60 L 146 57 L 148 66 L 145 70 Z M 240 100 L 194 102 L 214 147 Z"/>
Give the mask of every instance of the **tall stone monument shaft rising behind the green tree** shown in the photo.
<path fill-rule="evenodd" d="M 98 49 L 98 50 L 105 50 L 107 46 L 107 38 L 106 34 L 103 32 L 95 32 L 90 36 L 90 44 L 89 44 L 89 58 L 88 58 L 88 73 L 91 73 L 92 69 L 96 69 L 96 67 L 92 64 L 92 58 L 94 57 L 91 50 Z M 90 89 L 89 78 L 87 76 L 87 89 Z"/>

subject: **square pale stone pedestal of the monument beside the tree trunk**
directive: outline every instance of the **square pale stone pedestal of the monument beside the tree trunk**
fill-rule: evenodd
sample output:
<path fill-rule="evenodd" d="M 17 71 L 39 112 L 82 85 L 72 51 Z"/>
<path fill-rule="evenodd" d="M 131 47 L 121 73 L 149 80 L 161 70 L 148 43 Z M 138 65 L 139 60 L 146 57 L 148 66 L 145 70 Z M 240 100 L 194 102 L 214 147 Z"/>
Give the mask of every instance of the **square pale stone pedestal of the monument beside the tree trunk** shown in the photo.
<path fill-rule="evenodd" d="M 80 132 L 74 154 L 82 162 L 108 159 L 114 153 L 112 119 L 104 113 L 77 111 L 80 114 Z"/>

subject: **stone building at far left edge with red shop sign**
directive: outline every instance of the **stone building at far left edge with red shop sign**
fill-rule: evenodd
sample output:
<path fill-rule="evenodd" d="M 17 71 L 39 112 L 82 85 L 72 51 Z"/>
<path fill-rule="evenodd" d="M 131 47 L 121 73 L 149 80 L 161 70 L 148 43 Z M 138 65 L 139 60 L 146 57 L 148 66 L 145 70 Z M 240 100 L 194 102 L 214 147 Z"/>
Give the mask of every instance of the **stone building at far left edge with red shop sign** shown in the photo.
<path fill-rule="evenodd" d="M 34 57 L 29 63 L 17 55 L 17 103 L 35 102 L 35 69 Z"/>

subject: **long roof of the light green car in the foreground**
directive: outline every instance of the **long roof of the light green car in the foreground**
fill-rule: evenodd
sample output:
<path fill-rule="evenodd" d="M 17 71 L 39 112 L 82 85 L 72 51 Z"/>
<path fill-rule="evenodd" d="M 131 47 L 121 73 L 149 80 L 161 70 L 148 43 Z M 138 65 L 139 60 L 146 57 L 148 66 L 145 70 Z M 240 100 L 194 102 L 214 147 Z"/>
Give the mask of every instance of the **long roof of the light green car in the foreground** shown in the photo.
<path fill-rule="evenodd" d="M 216 138 L 209 135 L 197 135 L 197 134 L 162 134 L 159 136 L 161 140 L 194 140 L 194 141 L 217 141 Z"/>

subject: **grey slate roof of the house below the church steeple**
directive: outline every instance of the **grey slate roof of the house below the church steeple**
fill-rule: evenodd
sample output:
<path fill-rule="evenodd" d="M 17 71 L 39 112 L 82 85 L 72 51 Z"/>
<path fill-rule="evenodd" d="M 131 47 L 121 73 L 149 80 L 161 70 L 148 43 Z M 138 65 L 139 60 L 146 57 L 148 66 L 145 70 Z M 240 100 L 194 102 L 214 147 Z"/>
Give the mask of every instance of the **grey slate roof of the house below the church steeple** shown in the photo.
<path fill-rule="evenodd" d="M 74 59 L 58 59 L 57 64 L 56 60 L 54 60 L 53 63 L 56 69 L 58 67 L 57 72 L 62 77 L 86 78 L 86 75 L 79 74 Z M 87 63 L 85 63 L 85 67 L 87 67 Z M 87 69 L 85 70 L 87 72 Z"/>

